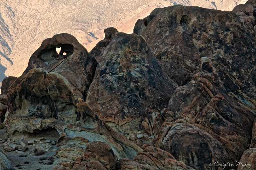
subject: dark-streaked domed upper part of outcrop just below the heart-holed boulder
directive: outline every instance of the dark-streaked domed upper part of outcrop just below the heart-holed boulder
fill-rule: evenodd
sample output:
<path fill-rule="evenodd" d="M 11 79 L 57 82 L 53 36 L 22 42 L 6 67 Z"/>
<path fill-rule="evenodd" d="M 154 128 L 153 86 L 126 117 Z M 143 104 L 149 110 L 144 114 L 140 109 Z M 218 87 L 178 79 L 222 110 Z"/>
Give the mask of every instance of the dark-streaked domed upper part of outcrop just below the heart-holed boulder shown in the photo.
<path fill-rule="evenodd" d="M 75 122 L 78 119 L 78 98 L 83 98 L 82 94 L 60 74 L 32 69 L 11 85 L 8 93 L 9 118 L 19 115 Z"/>

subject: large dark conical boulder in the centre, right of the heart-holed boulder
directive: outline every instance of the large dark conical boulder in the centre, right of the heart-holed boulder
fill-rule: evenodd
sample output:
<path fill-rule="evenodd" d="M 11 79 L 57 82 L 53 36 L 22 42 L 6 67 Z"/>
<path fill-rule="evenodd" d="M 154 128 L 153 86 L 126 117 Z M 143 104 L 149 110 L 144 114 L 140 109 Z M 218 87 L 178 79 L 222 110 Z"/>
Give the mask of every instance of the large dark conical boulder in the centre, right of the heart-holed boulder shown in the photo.
<path fill-rule="evenodd" d="M 167 106 L 176 87 L 142 36 L 118 32 L 100 55 L 86 102 L 110 127 L 137 133 L 140 120 Z"/>

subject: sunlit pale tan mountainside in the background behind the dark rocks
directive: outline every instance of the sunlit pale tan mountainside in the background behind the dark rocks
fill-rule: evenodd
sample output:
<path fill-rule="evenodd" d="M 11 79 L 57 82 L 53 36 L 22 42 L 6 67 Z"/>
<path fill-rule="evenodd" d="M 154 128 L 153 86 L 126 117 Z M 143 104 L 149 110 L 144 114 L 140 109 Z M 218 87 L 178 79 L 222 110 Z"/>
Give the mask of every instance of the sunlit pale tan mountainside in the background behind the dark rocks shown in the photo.
<path fill-rule="evenodd" d="M 132 33 L 135 22 L 156 7 L 200 6 L 231 11 L 244 0 L 2 0 L 0 2 L 0 88 L 6 76 L 20 76 L 41 42 L 70 33 L 90 51 L 110 26 Z"/>

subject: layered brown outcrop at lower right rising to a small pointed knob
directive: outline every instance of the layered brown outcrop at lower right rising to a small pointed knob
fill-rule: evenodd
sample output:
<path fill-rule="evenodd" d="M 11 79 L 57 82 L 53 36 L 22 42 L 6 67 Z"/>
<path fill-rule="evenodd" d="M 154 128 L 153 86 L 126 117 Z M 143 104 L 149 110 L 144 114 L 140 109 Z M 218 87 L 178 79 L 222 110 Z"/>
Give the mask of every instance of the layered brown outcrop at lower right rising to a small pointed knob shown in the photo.
<path fill-rule="evenodd" d="M 168 109 L 174 114 L 154 145 L 188 166 L 238 161 L 250 146 L 255 114 L 228 95 L 208 58 L 201 59 L 191 82 L 175 90 Z"/>

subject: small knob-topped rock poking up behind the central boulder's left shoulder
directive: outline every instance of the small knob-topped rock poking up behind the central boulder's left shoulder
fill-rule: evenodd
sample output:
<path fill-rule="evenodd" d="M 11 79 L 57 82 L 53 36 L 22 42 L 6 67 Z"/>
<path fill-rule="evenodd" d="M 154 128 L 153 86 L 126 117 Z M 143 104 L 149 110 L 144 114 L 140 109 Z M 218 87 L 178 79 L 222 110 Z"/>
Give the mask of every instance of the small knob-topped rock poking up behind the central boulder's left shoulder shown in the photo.
<path fill-rule="evenodd" d="M 92 48 L 92 50 L 90 51 L 90 55 L 92 55 L 97 60 L 97 62 L 99 62 L 100 54 L 112 41 L 116 32 L 117 32 L 117 29 L 114 27 L 106 28 L 104 30 L 104 33 L 105 33 L 104 40 L 101 40 L 100 42 L 98 42 L 98 44 L 94 48 Z"/>

